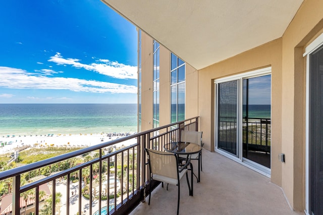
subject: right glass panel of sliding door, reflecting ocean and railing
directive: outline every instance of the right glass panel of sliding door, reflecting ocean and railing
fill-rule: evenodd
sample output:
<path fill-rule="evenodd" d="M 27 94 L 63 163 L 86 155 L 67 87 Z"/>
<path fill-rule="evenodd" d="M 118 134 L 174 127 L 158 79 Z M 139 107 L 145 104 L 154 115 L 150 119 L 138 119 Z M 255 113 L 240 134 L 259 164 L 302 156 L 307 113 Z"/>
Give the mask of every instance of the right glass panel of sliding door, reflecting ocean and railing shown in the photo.
<path fill-rule="evenodd" d="M 243 157 L 271 168 L 271 75 L 242 81 Z"/>

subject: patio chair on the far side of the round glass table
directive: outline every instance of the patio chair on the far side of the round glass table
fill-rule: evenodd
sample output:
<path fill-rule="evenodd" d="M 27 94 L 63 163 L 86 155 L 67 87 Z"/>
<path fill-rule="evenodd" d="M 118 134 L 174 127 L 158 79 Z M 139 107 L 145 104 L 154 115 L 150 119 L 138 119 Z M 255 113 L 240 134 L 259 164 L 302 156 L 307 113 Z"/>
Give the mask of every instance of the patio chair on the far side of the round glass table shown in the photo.
<path fill-rule="evenodd" d="M 202 143 L 202 131 L 181 131 L 181 142 L 191 142 L 203 146 Z M 186 158 L 184 155 L 180 155 L 182 158 Z M 198 160 L 198 177 L 197 182 L 200 182 L 200 171 L 202 171 L 202 151 L 199 153 L 191 154 L 189 157 L 190 160 Z M 194 174 L 195 175 L 195 174 Z"/>

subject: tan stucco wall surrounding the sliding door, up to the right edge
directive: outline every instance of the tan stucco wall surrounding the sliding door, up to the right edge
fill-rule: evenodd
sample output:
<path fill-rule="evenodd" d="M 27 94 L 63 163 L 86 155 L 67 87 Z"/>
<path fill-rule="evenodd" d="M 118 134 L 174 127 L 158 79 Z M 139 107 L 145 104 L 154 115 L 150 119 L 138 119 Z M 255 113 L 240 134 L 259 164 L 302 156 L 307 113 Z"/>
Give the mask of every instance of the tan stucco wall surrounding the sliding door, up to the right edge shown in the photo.
<path fill-rule="evenodd" d="M 304 1 L 282 38 L 198 71 L 198 114 L 205 148 L 214 150 L 213 80 L 272 66 L 272 175 L 292 208 L 305 209 L 304 48 L 323 32 L 323 1 Z M 278 160 L 285 153 L 286 162 Z"/>

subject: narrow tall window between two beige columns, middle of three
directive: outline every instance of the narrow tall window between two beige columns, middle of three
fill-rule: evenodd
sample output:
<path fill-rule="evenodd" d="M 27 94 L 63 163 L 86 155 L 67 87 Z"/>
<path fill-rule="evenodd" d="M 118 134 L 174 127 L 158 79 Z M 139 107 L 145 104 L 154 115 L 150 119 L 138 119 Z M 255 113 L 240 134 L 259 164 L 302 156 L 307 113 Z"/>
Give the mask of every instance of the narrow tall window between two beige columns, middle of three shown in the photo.
<path fill-rule="evenodd" d="M 153 127 L 159 127 L 159 43 L 153 41 Z"/>

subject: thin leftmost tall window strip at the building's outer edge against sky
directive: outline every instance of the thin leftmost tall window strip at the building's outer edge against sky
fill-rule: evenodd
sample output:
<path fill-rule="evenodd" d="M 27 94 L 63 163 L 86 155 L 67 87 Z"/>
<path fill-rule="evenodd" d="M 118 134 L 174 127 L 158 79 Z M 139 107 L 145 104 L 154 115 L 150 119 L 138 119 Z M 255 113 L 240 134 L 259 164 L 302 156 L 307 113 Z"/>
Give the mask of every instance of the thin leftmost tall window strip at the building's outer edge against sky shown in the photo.
<path fill-rule="evenodd" d="M 141 30 L 138 31 L 138 131 L 141 131 Z"/>

